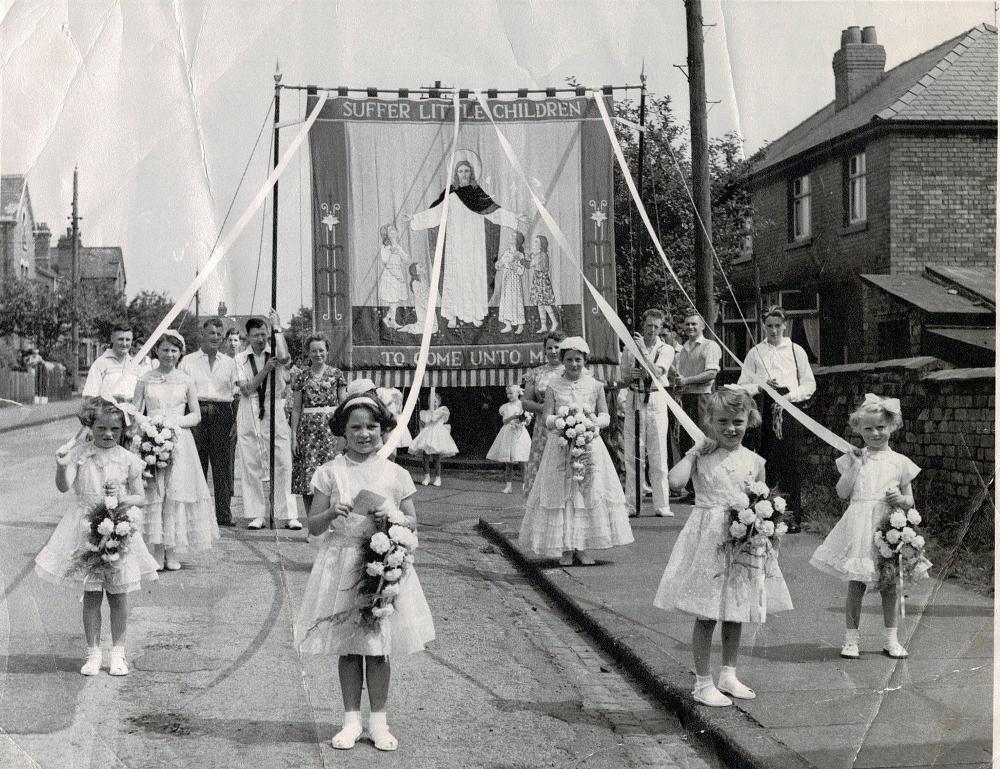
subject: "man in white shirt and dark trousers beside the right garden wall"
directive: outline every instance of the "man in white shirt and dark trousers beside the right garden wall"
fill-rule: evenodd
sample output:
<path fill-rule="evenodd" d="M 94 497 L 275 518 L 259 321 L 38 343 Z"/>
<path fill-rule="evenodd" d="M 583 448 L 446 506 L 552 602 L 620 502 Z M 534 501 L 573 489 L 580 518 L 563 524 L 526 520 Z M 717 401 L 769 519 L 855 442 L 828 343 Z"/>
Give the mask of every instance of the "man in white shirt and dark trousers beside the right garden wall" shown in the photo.
<path fill-rule="evenodd" d="M 816 392 L 816 379 L 805 350 L 785 337 L 785 311 L 772 307 L 761 320 L 764 341 L 747 353 L 739 384 L 757 395 L 760 387 L 755 383 L 763 380 L 792 403 L 809 400 Z M 788 530 L 795 533 L 802 526 L 798 457 L 802 426 L 796 419 L 786 419 L 781 406 L 767 395 L 761 398 L 760 455 L 767 460 L 767 484 L 781 487 L 792 514 Z"/>

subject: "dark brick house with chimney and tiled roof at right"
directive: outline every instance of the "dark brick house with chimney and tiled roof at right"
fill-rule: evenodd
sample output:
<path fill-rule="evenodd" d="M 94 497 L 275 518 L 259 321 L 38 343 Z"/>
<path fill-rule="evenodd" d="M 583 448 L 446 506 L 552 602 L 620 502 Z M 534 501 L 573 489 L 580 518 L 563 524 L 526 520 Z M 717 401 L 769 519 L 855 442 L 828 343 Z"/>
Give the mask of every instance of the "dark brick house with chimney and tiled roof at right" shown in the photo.
<path fill-rule="evenodd" d="M 734 264 L 733 284 L 748 317 L 758 302 L 785 307 L 792 338 L 822 365 L 923 354 L 930 335 L 901 345 L 906 313 L 879 284 L 995 271 L 996 28 L 977 25 L 886 72 L 875 29 L 851 27 L 833 71 L 834 100 L 751 170 L 753 247 Z M 961 325 L 968 314 L 995 325 L 992 305 L 941 293 L 960 306 L 924 320 Z M 722 324 L 727 344 L 745 352 L 751 342 L 731 304 Z"/>

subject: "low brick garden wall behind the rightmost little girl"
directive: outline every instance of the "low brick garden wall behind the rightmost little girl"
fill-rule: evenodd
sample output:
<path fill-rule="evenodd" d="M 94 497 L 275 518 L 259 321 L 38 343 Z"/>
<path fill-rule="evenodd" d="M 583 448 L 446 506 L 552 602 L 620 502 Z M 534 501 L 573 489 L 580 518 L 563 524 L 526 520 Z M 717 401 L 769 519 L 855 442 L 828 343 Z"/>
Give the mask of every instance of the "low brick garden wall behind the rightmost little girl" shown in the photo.
<path fill-rule="evenodd" d="M 816 396 L 806 408 L 821 424 L 860 446 L 860 438 L 850 437 L 847 417 L 865 393 L 899 398 L 903 427 L 891 445 L 922 469 L 913 491 L 917 508 L 932 528 L 961 520 L 982 488 L 980 475 L 991 478 L 994 467 L 996 371 L 947 365 L 921 357 L 819 368 Z M 800 455 L 807 514 L 809 510 L 839 514 L 846 509 L 847 503 L 834 490 L 837 452 L 809 435 Z M 983 536 L 985 528 L 992 531 L 991 504 L 987 498 L 986 511 L 976 518 Z"/>

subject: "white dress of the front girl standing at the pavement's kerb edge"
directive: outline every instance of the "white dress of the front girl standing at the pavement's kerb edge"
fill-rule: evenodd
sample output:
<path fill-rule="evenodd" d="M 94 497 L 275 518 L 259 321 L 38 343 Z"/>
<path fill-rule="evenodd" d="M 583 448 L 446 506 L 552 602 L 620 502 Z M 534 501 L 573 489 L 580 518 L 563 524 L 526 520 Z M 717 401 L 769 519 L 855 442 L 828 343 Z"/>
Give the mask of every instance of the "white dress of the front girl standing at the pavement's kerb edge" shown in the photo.
<path fill-rule="evenodd" d="M 773 553 L 733 563 L 720 547 L 728 539 L 726 508 L 763 468 L 764 459 L 743 446 L 698 457 L 691 476 L 694 509 L 670 552 L 654 606 L 724 622 L 763 622 L 768 612 L 791 610 Z"/>

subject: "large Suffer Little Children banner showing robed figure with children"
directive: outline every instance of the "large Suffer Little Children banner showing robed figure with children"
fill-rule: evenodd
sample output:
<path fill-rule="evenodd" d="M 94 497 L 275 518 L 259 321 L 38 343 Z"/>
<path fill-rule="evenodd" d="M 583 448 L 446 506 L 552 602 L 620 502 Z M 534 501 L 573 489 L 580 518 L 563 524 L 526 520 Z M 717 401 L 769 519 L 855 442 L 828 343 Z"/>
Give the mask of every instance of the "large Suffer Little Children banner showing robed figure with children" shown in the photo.
<path fill-rule="evenodd" d="M 336 97 L 313 127 L 313 299 L 331 362 L 409 384 L 448 195 L 430 381 L 517 381 L 542 362 L 553 326 L 584 336 L 596 364 L 616 364 L 615 334 L 531 202 L 531 192 L 545 201 L 613 306 L 613 158 L 594 100 L 494 99 L 489 115 L 475 99 L 459 104 L 450 180 L 450 100 Z M 491 117 L 522 159 L 530 192 Z"/>

